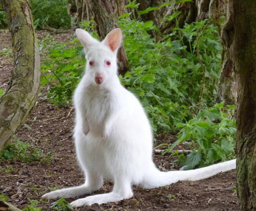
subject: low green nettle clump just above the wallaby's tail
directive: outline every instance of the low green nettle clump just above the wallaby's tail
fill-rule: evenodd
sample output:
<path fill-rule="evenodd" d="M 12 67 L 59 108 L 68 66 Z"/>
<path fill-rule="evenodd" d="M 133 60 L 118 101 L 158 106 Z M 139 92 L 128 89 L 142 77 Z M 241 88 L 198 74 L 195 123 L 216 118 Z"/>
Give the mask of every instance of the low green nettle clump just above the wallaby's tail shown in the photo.
<path fill-rule="evenodd" d="M 180 159 L 185 169 L 234 159 L 236 121 L 231 118 L 234 108 L 234 105 L 224 106 L 222 102 L 200 111 L 185 124 L 177 124 L 180 129 L 178 140 L 166 151 L 186 141 L 192 152 Z"/>

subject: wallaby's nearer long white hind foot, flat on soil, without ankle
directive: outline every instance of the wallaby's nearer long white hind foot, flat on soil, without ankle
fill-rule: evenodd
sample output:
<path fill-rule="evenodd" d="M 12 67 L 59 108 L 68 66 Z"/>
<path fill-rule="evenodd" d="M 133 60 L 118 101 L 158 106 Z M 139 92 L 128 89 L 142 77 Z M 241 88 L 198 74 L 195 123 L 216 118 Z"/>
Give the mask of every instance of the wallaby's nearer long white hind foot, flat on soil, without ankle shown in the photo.
<path fill-rule="evenodd" d="M 118 202 L 121 201 L 122 199 L 128 199 L 131 198 L 133 195 L 129 195 L 128 197 L 123 197 L 120 194 L 111 192 L 108 194 L 97 194 L 94 196 L 90 196 L 90 197 L 85 197 L 83 199 L 77 199 L 76 201 L 73 201 L 70 203 L 70 205 L 73 208 L 76 207 L 82 207 L 84 205 L 92 205 L 92 204 L 103 204 L 103 203 L 108 203 L 108 202 Z"/>

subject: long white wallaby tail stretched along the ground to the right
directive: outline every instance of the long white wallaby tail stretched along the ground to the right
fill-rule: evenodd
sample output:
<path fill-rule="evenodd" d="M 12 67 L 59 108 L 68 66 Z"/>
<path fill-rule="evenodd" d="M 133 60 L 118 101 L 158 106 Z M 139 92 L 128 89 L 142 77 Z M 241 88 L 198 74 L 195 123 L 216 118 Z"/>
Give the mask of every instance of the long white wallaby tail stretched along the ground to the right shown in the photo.
<path fill-rule="evenodd" d="M 232 169 L 236 169 L 236 159 L 188 171 L 161 172 L 155 168 L 145 176 L 142 186 L 144 188 L 157 188 L 164 185 L 170 185 L 181 180 L 195 181 L 206 179 L 217 173 Z"/>

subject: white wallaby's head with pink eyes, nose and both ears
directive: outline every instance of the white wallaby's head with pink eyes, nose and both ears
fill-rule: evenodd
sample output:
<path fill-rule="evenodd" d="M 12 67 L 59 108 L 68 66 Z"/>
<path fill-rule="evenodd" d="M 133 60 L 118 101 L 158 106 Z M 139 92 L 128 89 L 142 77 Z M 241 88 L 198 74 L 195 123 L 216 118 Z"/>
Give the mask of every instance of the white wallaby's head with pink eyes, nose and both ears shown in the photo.
<path fill-rule="evenodd" d="M 120 29 L 113 29 L 99 42 L 83 29 L 76 29 L 76 35 L 84 46 L 86 74 L 93 83 L 104 84 L 117 73 L 116 54 L 122 40 Z"/>

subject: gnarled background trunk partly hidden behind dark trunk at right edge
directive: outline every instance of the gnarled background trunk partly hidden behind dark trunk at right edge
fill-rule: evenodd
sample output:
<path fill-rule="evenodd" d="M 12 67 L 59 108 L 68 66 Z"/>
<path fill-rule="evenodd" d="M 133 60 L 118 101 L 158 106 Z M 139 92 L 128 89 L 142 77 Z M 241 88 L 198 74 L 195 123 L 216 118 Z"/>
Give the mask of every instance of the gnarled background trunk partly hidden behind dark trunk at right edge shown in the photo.
<path fill-rule="evenodd" d="M 217 102 L 225 101 L 225 104 L 236 104 L 237 82 L 234 63 L 231 58 L 230 46 L 234 39 L 234 9 L 233 0 L 226 0 L 226 22 L 221 31 L 222 40 L 222 67 L 218 84 Z"/>

